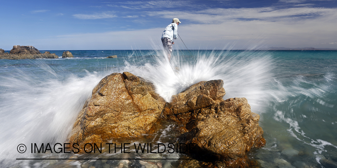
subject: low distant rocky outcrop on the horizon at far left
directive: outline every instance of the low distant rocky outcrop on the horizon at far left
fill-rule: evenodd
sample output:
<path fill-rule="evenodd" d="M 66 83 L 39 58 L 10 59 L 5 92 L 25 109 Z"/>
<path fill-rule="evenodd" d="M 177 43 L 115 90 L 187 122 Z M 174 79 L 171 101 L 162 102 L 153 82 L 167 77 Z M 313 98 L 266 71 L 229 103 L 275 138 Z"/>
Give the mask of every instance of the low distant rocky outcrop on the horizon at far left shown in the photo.
<path fill-rule="evenodd" d="M 37 58 L 58 58 L 58 56 L 49 51 L 41 53 L 33 46 L 14 45 L 10 52 L 0 53 L 0 59 L 37 59 Z"/>

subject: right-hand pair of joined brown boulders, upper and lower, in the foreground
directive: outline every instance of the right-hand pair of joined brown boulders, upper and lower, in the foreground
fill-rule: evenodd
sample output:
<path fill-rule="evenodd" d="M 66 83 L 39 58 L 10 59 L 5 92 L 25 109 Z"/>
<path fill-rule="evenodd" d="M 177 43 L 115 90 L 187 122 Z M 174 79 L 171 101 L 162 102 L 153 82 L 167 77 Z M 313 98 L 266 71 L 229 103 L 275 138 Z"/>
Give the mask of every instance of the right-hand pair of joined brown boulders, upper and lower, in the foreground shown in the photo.
<path fill-rule="evenodd" d="M 265 144 L 259 115 L 246 98 L 223 100 L 224 94 L 222 80 L 202 81 L 174 95 L 164 114 L 186 126 L 181 140 L 196 144 L 195 158 L 248 167 L 247 152 Z"/>

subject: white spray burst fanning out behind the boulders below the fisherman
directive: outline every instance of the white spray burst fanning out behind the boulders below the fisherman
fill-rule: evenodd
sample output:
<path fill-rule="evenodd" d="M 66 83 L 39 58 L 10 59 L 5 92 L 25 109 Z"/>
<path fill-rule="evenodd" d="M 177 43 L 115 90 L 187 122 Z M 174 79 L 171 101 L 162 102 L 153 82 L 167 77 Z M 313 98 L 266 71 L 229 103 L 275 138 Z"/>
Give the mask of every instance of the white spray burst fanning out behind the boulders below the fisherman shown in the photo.
<path fill-rule="evenodd" d="M 261 56 L 263 55 L 263 56 Z M 171 96 L 187 87 L 208 80 L 222 79 L 226 95 L 246 97 L 252 110 L 261 113 L 262 101 L 269 98 L 272 82 L 273 59 L 264 52 L 253 51 L 209 51 L 197 53 L 195 57 L 173 56 L 168 62 L 164 53 L 158 53 L 155 64 L 145 64 L 136 69 L 127 64 L 122 71 L 129 71 L 152 82 L 156 91 L 167 102 Z"/>

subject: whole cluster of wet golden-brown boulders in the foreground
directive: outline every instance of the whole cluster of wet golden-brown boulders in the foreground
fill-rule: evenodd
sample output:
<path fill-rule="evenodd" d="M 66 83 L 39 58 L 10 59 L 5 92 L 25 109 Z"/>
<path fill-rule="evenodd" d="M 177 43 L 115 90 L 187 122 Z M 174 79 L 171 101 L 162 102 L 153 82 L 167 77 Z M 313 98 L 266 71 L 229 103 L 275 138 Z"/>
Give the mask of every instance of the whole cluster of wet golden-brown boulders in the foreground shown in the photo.
<path fill-rule="evenodd" d="M 251 112 L 246 98 L 223 100 L 224 95 L 222 80 L 202 81 L 165 102 L 150 82 L 128 72 L 113 73 L 93 89 L 70 143 L 141 138 L 158 129 L 159 121 L 171 120 L 181 125 L 179 142 L 195 144 L 192 158 L 215 167 L 248 167 L 247 153 L 266 143 L 259 115 Z"/>

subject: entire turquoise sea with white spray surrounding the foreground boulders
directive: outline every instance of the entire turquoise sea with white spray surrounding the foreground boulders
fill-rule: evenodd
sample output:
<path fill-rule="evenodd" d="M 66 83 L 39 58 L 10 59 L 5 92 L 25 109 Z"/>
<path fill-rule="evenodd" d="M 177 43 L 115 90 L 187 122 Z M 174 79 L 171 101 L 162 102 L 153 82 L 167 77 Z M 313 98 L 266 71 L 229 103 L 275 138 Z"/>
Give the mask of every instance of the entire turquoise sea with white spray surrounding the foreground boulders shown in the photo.
<path fill-rule="evenodd" d="M 59 56 L 62 52 L 51 51 Z M 154 83 L 167 101 L 196 82 L 222 79 L 224 99 L 246 97 L 252 112 L 260 115 L 267 145 L 249 155 L 260 167 L 337 166 L 337 51 L 179 50 L 170 64 L 155 50 L 70 52 L 75 58 L 0 60 L 0 167 L 118 166 L 119 160 L 16 159 L 86 157 L 20 154 L 17 147 L 26 144 L 30 150 L 31 143 L 66 143 L 94 86 L 104 76 L 124 71 Z M 110 55 L 118 57 L 105 58 Z M 175 67 L 179 67 L 178 73 Z M 165 123 L 146 139 L 124 143 L 175 142 L 175 127 Z M 119 158 L 125 154 L 90 157 Z M 163 166 L 179 164 L 168 161 L 159 160 Z M 132 162 L 133 167 L 140 167 L 138 163 Z"/>

